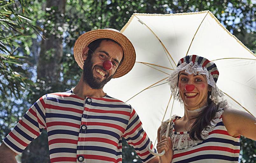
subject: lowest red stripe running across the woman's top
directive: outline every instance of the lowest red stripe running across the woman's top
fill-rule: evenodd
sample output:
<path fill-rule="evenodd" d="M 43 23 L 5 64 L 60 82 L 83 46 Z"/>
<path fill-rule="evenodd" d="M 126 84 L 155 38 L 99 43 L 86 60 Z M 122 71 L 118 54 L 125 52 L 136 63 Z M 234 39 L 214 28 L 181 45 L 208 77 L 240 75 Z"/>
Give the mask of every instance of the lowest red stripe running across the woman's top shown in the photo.
<path fill-rule="evenodd" d="M 239 153 L 240 150 L 234 150 L 228 147 L 221 147 L 221 146 L 204 146 L 201 148 L 197 148 L 188 152 L 183 152 L 183 153 L 178 153 L 178 154 L 174 154 L 173 155 L 173 159 L 177 158 L 177 157 L 182 157 L 188 154 L 192 154 L 192 153 L 196 153 L 196 152 L 200 152 L 200 151 L 208 151 L 208 150 L 214 150 L 214 151 L 226 151 L 226 152 L 230 152 L 230 153 Z"/>

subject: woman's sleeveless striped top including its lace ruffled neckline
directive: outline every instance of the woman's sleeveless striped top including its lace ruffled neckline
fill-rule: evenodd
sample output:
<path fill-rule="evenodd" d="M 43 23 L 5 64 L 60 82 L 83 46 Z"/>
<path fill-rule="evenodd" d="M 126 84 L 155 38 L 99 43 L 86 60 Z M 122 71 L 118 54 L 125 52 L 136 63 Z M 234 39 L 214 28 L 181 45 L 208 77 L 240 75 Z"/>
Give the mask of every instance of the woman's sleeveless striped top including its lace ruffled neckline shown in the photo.
<path fill-rule="evenodd" d="M 216 115 L 210 127 L 207 126 L 209 133 L 205 133 L 203 141 L 191 140 L 189 132 L 175 132 L 175 120 L 181 117 L 173 117 L 170 129 L 174 144 L 172 163 L 238 163 L 240 136 L 234 138 L 227 132 L 221 116 L 223 108 L 219 109 L 220 114 Z"/>

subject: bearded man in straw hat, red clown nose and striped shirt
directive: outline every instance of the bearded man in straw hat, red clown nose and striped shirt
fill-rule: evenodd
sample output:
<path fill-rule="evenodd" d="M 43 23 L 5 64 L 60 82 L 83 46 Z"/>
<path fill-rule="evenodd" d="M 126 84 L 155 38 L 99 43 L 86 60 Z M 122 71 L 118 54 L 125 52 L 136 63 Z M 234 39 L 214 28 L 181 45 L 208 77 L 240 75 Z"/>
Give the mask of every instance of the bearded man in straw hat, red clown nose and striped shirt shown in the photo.
<path fill-rule="evenodd" d="M 136 56 L 128 38 L 114 29 L 86 32 L 74 45 L 74 57 L 83 69 L 79 83 L 38 99 L 3 140 L 0 162 L 16 162 L 15 155 L 43 129 L 52 163 L 121 162 L 122 138 L 143 162 L 158 162 L 147 150 L 149 138 L 135 110 L 102 90 L 132 69 Z"/>

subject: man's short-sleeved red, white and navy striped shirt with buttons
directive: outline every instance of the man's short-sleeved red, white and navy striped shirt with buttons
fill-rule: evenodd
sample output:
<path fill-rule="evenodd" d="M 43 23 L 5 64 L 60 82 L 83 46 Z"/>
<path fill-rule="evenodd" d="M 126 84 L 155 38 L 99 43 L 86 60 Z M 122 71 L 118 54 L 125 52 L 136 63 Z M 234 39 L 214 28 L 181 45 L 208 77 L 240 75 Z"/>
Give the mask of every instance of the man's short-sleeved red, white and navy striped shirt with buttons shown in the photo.
<path fill-rule="evenodd" d="M 149 138 L 135 110 L 124 102 L 76 96 L 68 92 L 46 94 L 25 113 L 3 140 L 15 153 L 47 130 L 52 163 L 122 162 L 122 138 L 143 162 L 149 153 Z"/>

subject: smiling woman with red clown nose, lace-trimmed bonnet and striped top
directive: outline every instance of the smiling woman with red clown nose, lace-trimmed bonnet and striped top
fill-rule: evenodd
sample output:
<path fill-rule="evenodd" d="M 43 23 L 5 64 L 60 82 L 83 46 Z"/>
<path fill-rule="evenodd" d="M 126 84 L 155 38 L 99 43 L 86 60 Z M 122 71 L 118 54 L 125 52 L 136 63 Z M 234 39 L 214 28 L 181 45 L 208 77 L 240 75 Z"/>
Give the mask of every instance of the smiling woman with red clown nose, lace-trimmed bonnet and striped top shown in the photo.
<path fill-rule="evenodd" d="M 256 119 L 228 107 L 216 85 L 218 74 L 206 58 L 191 55 L 179 60 L 168 81 L 184 105 L 184 116 L 172 117 L 170 137 L 163 136 L 168 121 L 158 129 L 157 151 L 166 151 L 161 163 L 238 163 L 240 135 L 256 139 Z"/>

